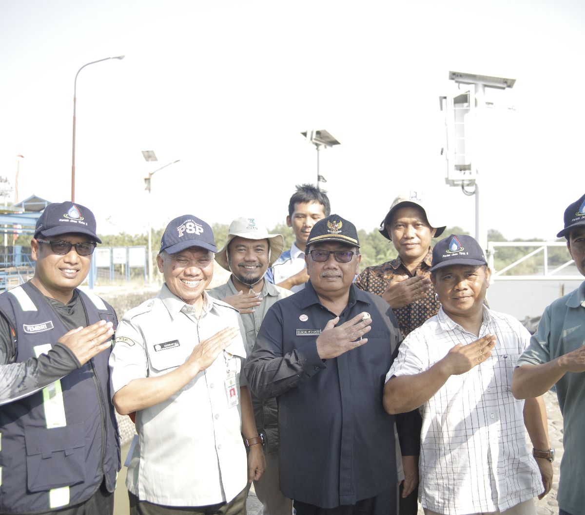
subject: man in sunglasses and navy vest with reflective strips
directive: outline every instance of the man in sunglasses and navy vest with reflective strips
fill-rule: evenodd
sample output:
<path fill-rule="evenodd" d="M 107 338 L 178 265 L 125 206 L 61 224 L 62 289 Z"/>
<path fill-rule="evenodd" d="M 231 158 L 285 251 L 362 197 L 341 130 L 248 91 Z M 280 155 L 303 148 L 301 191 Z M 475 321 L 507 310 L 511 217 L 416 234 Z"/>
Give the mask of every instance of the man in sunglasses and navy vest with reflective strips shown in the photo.
<path fill-rule="evenodd" d="M 87 207 L 49 204 L 30 242 L 35 276 L 0 295 L 0 513 L 113 513 L 116 315 L 77 289 L 97 243 Z"/>

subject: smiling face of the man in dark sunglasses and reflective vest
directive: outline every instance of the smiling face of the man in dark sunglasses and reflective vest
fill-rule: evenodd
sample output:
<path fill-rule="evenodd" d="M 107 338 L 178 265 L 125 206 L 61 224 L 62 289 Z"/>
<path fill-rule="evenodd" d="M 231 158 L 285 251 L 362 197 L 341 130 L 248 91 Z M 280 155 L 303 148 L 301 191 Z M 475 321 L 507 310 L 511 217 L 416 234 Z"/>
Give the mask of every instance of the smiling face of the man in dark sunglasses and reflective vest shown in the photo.
<path fill-rule="evenodd" d="M 91 236 L 83 234 L 61 234 L 43 238 L 47 241 L 66 241 L 69 243 L 91 243 Z M 91 255 L 80 256 L 75 247 L 65 255 L 55 254 L 49 243 L 30 241 L 30 256 L 36 261 L 35 277 L 32 283 L 47 297 L 63 304 L 71 300 L 73 290 L 77 288 L 90 272 Z"/>

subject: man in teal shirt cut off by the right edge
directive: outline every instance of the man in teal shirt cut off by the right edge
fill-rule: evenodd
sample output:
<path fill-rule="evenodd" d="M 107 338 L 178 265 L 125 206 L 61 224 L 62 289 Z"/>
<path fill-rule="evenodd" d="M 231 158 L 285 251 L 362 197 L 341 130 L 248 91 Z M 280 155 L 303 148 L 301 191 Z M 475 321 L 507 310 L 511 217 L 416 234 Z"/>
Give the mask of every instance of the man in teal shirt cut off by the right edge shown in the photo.
<path fill-rule="evenodd" d="M 567 249 L 585 276 L 585 195 L 565 210 L 564 236 Z M 542 395 L 556 385 L 563 413 L 563 460 L 557 500 L 560 515 L 583 513 L 585 506 L 585 282 L 550 304 L 542 314 L 530 346 L 514 370 L 512 392 L 518 399 Z M 534 454 L 554 458 L 554 449 L 540 447 Z"/>

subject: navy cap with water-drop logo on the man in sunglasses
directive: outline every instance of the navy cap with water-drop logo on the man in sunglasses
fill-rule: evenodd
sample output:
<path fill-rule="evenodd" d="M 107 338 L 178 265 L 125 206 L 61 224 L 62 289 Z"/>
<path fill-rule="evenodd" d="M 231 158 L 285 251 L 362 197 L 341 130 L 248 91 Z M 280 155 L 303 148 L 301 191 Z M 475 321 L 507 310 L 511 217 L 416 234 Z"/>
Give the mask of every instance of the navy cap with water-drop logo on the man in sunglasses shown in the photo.
<path fill-rule="evenodd" d="M 33 238 L 37 238 L 39 235 L 49 238 L 73 232 L 87 234 L 96 242 L 102 242 L 95 234 L 94 214 L 87 207 L 69 201 L 53 203 L 44 208 L 39 220 L 37 220 Z"/>

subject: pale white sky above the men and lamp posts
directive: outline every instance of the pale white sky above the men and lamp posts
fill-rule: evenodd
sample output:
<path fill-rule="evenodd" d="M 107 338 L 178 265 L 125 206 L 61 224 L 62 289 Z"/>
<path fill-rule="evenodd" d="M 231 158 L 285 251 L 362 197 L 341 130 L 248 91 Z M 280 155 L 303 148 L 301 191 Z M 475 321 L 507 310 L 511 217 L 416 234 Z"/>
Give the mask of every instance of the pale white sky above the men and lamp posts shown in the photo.
<path fill-rule="evenodd" d="M 485 141 L 484 224 L 553 239 L 585 193 L 584 49 L 583 1 L 0 0 L 0 175 L 21 154 L 19 200 L 70 199 L 75 72 L 124 54 L 77 80 L 75 200 L 99 232 L 284 221 L 317 128 L 341 142 L 321 154 L 333 212 L 371 230 L 422 190 L 433 224 L 473 234 L 440 155 L 453 70 L 516 79 Z M 176 159 L 149 199 L 144 176 Z"/>

